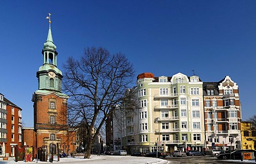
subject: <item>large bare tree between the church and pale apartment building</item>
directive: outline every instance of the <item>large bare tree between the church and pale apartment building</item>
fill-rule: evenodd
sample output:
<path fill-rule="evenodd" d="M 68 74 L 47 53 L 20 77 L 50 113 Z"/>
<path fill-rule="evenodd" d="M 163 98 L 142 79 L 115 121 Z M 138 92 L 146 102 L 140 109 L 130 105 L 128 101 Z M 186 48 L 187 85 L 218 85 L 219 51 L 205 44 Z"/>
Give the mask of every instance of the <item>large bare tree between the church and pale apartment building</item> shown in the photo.
<path fill-rule="evenodd" d="M 87 135 L 84 158 L 90 158 L 92 144 L 109 114 L 124 100 L 134 77 L 134 68 L 122 53 L 111 55 L 102 47 L 88 47 L 79 59 L 64 64 L 63 88 L 68 94 L 68 122 Z M 95 134 L 92 134 L 95 128 Z"/>

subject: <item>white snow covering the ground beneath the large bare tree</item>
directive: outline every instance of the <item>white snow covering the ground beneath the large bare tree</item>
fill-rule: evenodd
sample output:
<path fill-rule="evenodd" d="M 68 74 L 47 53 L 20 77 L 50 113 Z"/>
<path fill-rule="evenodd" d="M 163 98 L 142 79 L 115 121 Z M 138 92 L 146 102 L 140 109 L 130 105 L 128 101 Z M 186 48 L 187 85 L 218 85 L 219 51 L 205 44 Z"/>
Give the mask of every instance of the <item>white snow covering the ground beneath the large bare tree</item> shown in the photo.
<path fill-rule="evenodd" d="M 41 162 L 34 159 L 33 162 L 26 163 L 50 163 L 49 160 L 47 162 Z M 25 163 L 24 161 L 15 162 L 14 158 L 9 158 L 8 161 L 3 161 L 0 159 L 0 163 Z M 84 156 L 76 156 L 76 157 L 68 157 L 68 158 L 60 158 L 60 161 L 57 161 L 57 157 L 54 157 L 53 163 L 86 163 L 86 164 L 116 164 L 116 163 L 125 163 L 125 164 L 137 164 L 137 163 L 154 163 L 154 164 L 164 164 L 168 163 L 167 160 L 156 159 L 156 158 L 148 158 L 148 157 L 131 157 L 131 156 L 97 156 L 91 155 L 90 159 L 84 159 Z"/>

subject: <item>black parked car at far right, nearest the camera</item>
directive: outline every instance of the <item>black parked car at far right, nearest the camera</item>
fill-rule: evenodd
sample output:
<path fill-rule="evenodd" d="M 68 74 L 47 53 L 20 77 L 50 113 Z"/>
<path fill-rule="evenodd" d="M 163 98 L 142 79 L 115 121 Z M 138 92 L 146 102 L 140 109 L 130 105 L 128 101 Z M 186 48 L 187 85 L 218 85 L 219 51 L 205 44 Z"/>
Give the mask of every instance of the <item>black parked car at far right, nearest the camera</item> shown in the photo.
<path fill-rule="evenodd" d="M 255 150 L 248 150 L 248 149 L 245 149 L 245 150 L 235 150 L 231 153 L 223 153 L 223 154 L 219 154 L 217 156 L 218 159 L 239 159 L 241 160 L 241 155 L 242 153 L 245 153 L 245 152 L 253 152 L 254 153 L 254 157 L 256 156 L 256 151 Z"/>

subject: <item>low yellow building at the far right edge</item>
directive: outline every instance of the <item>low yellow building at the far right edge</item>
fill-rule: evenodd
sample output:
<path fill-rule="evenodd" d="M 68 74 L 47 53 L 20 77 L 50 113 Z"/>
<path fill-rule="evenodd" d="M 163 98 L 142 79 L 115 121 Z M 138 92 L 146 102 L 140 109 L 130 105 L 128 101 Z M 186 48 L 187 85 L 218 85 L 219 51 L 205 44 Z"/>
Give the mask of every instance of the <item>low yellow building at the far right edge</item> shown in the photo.
<path fill-rule="evenodd" d="M 252 130 L 251 123 L 241 123 L 242 149 L 256 150 L 256 131 Z"/>

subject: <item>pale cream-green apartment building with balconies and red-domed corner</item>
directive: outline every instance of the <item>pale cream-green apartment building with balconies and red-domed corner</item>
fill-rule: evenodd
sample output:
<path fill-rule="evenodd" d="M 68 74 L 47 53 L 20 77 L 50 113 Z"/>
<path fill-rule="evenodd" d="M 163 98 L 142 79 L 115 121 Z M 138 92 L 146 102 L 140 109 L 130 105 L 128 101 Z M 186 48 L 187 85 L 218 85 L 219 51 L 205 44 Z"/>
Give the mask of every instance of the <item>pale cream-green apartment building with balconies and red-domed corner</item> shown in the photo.
<path fill-rule="evenodd" d="M 142 73 L 136 84 L 138 110 L 125 116 L 128 153 L 204 149 L 203 82 L 198 76 Z"/>

